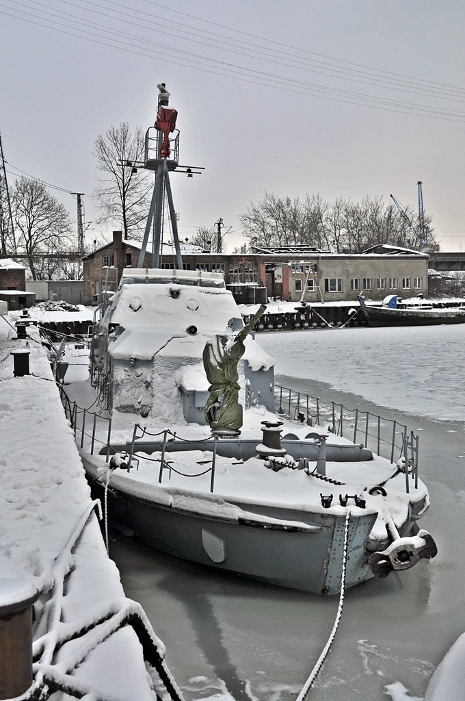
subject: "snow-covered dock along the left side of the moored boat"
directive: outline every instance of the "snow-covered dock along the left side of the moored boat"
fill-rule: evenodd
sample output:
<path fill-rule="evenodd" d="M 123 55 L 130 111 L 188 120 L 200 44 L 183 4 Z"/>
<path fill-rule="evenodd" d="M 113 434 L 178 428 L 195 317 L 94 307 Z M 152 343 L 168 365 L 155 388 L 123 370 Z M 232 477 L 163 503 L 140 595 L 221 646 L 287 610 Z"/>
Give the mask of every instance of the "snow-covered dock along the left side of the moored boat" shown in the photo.
<path fill-rule="evenodd" d="M 24 352 L 30 374 L 14 376 L 12 351 Z M 22 698 L 41 688 L 56 701 L 153 701 L 156 690 L 181 699 L 162 642 L 106 554 L 39 333 L 29 327 L 17 339 L 8 316 L 0 317 L 0 383 L 0 608 L 12 578 L 39 592 L 33 683 Z"/>

